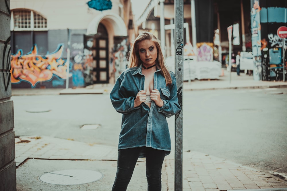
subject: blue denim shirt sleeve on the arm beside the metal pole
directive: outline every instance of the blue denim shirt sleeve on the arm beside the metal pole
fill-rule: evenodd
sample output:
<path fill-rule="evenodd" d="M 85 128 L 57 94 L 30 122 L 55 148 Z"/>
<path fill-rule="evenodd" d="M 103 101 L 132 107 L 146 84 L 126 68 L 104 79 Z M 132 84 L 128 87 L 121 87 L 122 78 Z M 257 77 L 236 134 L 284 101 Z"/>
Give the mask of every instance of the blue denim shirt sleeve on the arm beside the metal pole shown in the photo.
<path fill-rule="evenodd" d="M 181 107 L 179 105 L 178 97 L 177 97 L 177 85 L 176 80 L 173 77 L 172 84 L 169 88 L 169 97 L 166 100 L 163 101 L 163 106 L 158 107 L 158 111 L 162 112 L 164 116 L 171 117 L 172 115 L 177 114 L 179 111 L 181 111 Z"/>

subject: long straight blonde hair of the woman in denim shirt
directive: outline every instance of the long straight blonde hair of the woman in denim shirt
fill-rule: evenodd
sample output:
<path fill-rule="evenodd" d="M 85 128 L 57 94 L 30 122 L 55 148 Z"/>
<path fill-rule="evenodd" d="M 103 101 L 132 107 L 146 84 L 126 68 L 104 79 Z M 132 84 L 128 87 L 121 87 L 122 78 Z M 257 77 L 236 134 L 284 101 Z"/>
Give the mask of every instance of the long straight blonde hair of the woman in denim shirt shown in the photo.
<path fill-rule="evenodd" d="M 164 56 L 162 55 L 162 50 L 160 47 L 160 41 L 150 32 L 143 32 L 137 36 L 135 41 L 133 42 L 133 45 L 131 46 L 131 50 L 129 51 L 129 64 L 128 68 L 132 67 L 138 67 L 141 65 L 141 59 L 139 57 L 139 46 L 138 43 L 142 42 L 144 40 L 152 40 L 155 45 L 156 49 L 158 51 L 158 58 L 156 59 L 157 67 L 162 72 L 162 75 L 165 78 L 166 85 L 172 84 L 170 73 L 165 65 Z"/>

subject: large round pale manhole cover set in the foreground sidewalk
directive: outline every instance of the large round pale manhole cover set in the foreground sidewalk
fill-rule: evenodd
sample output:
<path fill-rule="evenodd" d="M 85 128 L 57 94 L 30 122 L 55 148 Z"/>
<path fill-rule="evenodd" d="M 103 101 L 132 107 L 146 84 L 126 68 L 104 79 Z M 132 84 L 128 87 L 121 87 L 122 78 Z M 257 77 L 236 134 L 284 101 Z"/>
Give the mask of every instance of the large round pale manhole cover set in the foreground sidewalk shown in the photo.
<path fill-rule="evenodd" d="M 58 170 L 54 172 L 45 172 L 40 176 L 42 182 L 57 185 L 75 185 L 87 184 L 100 180 L 103 175 L 93 170 Z"/>

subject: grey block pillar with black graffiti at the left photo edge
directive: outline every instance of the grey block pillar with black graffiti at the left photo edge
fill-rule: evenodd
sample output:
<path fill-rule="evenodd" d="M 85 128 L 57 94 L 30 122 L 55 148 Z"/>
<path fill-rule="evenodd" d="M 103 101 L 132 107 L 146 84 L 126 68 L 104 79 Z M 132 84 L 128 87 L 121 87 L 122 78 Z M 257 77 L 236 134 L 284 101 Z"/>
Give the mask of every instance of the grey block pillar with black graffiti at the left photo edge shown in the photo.
<path fill-rule="evenodd" d="M 16 191 L 14 111 L 11 101 L 10 1 L 0 0 L 0 190 Z"/>

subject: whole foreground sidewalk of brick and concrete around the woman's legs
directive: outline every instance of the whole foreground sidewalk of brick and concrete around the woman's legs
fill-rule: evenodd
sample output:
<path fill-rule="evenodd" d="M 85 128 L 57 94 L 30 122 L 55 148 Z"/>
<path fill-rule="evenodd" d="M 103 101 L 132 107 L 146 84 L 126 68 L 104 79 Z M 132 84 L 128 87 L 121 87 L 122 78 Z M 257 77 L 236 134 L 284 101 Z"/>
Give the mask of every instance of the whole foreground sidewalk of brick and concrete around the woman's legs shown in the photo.
<path fill-rule="evenodd" d="M 35 191 L 66 189 L 104 191 L 110 190 L 113 184 L 117 160 L 116 147 L 88 145 L 55 137 L 32 136 L 15 138 L 15 151 L 18 191 L 26 191 L 28 188 Z M 89 188 L 86 188 L 85 184 L 62 188 L 59 187 L 61 185 L 36 181 L 47 172 L 53 174 L 55 168 L 57 170 L 79 168 L 90 170 L 95 167 L 103 174 L 103 178 L 89 183 Z M 166 157 L 162 172 L 162 190 L 174 190 L 173 153 Z M 27 173 L 29 177 L 24 176 Z M 287 190 L 287 181 L 204 153 L 195 151 L 183 153 L 183 190 L 267 189 L 271 191 L 278 190 L 276 188 Z M 138 160 L 128 190 L 146 190 L 144 159 Z"/>

